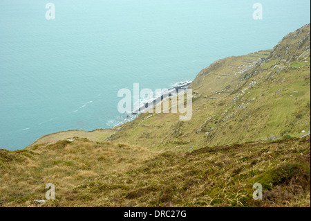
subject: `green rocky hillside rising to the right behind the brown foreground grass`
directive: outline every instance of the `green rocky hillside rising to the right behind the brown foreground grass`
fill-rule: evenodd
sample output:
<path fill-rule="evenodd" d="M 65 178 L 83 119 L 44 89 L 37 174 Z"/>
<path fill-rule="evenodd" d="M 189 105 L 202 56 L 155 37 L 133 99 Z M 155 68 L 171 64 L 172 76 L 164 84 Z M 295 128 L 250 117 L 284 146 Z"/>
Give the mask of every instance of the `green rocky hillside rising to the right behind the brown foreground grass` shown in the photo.
<path fill-rule="evenodd" d="M 302 136 L 310 131 L 310 24 L 272 50 L 214 62 L 190 87 L 191 121 L 179 121 L 179 114 L 141 114 L 109 141 L 185 151 Z"/>

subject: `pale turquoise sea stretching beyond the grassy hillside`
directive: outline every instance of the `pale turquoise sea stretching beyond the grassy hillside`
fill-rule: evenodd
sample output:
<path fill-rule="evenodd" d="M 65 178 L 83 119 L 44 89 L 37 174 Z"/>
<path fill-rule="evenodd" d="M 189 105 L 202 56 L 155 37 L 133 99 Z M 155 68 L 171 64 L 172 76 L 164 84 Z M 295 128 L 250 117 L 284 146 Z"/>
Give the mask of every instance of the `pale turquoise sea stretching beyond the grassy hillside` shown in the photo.
<path fill-rule="evenodd" d="M 55 4 L 47 20 L 46 3 Z M 113 127 L 117 91 L 194 80 L 310 23 L 309 0 L 0 0 L 0 148 Z"/>

